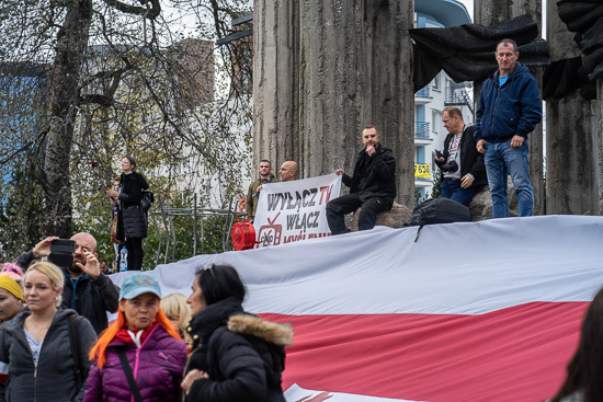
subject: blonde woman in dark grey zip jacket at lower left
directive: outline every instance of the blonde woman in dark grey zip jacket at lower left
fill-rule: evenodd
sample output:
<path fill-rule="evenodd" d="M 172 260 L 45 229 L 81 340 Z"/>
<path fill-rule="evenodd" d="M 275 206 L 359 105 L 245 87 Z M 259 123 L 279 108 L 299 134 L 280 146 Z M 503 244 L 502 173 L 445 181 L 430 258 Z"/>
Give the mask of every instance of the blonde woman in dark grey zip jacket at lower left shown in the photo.
<path fill-rule="evenodd" d="M 86 357 L 96 334 L 76 311 L 58 310 L 62 283 L 56 265 L 33 264 L 23 276 L 29 310 L 0 326 L 0 393 L 9 401 L 79 401 L 83 397 L 90 366 Z"/>

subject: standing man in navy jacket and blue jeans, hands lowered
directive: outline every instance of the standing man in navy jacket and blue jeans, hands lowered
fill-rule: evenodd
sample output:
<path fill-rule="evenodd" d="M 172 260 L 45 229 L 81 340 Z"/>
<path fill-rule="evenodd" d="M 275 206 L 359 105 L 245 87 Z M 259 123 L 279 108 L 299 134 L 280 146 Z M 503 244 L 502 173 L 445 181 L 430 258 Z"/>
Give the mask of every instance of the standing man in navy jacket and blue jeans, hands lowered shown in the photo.
<path fill-rule="evenodd" d="M 499 70 L 483 82 L 475 137 L 485 153 L 492 195 L 492 218 L 509 216 L 507 176 L 510 174 L 519 200 L 520 217 L 534 215 L 534 192 L 527 170 L 527 135 L 543 118 L 536 79 L 516 60 L 517 44 L 502 39 L 497 45 Z"/>

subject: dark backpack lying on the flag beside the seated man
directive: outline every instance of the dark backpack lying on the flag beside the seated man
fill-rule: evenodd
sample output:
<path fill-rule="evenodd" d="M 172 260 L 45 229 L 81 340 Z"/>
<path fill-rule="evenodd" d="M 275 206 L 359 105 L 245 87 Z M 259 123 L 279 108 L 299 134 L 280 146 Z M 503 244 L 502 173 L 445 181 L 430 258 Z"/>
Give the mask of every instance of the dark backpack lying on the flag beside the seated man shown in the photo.
<path fill-rule="evenodd" d="M 471 213 L 469 208 L 460 203 L 450 198 L 433 198 L 419 204 L 412 209 L 412 217 L 403 225 L 405 228 L 418 226 L 417 238 L 419 232 L 425 225 L 434 223 L 452 223 L 452 222 L 470 222 Z"/>

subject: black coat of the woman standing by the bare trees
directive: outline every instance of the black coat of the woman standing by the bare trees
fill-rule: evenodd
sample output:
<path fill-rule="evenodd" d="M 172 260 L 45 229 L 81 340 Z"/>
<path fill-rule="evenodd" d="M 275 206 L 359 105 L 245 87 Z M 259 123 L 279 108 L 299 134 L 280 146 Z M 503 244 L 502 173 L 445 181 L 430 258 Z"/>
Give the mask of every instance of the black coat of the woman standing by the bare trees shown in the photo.
<path fill-rule="evenodd" d="M 146 238 L 148 217 L 140 207 L 143 191 L 149 188 L 147 180 L 137 172 L 122 173 L 120 179 L 120 207 L 117 210 L 117 240 Z"/>

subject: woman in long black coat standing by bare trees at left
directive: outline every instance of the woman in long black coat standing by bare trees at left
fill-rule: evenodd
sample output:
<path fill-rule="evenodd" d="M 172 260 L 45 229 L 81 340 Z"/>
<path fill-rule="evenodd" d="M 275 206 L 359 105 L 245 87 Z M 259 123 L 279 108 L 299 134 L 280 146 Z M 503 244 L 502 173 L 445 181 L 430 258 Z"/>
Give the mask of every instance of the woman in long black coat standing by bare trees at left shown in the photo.
<path fill-rule="evenodd" d="M 120 191 L 107 189 L 110 197 L 117 199 L 117 233 L 116 240 L 125 242 L 128 252 L 127 268 L 140 271 L 143 267 L 143 239 L 147 237 L 147 215 L 140 200 L 143 191 L 149 188 L 144 175 L 136 172 L 136 160 L 132 157 L 122 159 L 122 175 Z M 120 264 L 117 264 L 120 266 Z"/>

